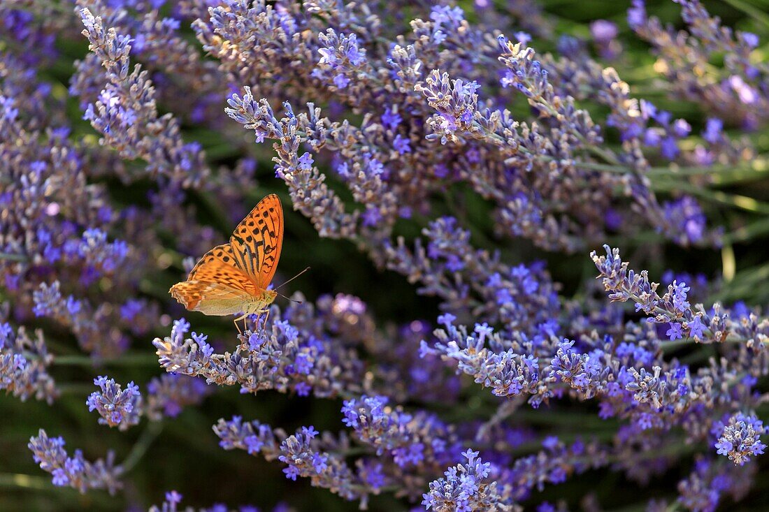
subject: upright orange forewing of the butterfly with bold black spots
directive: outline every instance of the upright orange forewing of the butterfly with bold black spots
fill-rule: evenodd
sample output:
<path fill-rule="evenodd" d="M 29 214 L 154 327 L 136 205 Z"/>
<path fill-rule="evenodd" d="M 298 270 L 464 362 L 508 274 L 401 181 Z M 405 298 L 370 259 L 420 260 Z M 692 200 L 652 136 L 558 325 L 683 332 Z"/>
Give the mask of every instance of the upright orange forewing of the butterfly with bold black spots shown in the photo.
<path fill-rule="evenodd" d="M 283 247 L 283 208 L 277 195 L 270 194 L 259 201 L 235 228 L 230 246 L 235 265 L 259 288 L 267 288 Z"/>

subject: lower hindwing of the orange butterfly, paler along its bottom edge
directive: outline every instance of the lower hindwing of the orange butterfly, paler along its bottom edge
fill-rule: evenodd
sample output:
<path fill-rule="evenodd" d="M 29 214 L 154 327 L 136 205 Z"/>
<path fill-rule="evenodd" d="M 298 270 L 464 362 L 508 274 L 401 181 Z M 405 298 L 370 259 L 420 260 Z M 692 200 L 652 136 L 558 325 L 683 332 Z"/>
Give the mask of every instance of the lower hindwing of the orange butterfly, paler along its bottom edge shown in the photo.
<path fill-rule="evenodd" d="M 190 311 L 223 316 L 243 311 L 244 305 L 255 296 L 256 286 L 244 272 L 225 264 L 223 258 L 206 260 L 204 256 L 192 269 L 188 280 L 174 284 L 170 292 Z"/>

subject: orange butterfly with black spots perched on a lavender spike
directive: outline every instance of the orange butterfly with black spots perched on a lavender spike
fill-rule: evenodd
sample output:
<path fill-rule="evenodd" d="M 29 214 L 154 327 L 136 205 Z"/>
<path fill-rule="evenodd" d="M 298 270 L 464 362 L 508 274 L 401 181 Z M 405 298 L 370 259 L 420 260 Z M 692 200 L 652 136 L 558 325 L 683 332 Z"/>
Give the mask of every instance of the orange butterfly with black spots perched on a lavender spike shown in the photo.
<path fill-rule="evenodd" d="M 203 255 L 187 277 L 169 292 L 189 311 L 225 316 L 269 313 L 278 292 L 268 290 L 283 246 L 283 209 L 270 194 L 233 231 L 228 244 Z M 240 327 L 238 327 L 240 332 Z"/>

